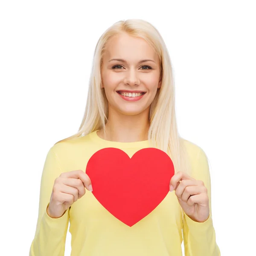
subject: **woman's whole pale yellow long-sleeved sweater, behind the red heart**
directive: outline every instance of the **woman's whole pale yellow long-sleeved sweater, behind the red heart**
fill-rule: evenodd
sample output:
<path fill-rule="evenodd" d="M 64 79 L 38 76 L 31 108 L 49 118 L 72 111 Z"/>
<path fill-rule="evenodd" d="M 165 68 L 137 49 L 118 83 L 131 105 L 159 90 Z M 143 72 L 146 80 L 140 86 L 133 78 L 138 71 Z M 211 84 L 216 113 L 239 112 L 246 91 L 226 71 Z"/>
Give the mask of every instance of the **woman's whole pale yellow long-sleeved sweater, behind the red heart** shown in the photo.
<path fill-rule="evenodd" d="M 204 181 L 211 207 L 206 154 L 199 146 L 187 140 L 185 143 L 192 163 L 190 176 Z M 109 147 L 122 149 L 132 157 L 150 145 L 148 141 L 121 143 L 103 140 L 95 131 L 57 143 L 49 149 L 41 177 L 38 221 L 30 256 L 64 256 L 69 221 L 71 256 L 181 256 L 183 240 L 186 256 L 220 256 L 211 209 L 207 221 L 195 222 L 181 210 L 175 191 L 169 192 L 150 214 L 132 227 L 111 215 L 88 190 L 63 216 L 50 218 L 46 209 L 55 178 L 62 172 L 85 171 L 90 157 Z"/>

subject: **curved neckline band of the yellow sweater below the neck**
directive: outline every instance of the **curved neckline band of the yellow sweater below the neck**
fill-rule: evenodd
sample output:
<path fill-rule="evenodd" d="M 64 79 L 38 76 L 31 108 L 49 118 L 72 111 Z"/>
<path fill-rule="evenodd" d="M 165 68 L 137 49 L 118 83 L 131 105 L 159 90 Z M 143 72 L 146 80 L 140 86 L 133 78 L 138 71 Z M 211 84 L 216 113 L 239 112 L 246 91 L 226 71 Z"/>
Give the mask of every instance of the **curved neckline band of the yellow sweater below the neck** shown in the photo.
<path fill-rule="evenodd" d="M 142 140 L 142 141 L 135 141 L 135 142 L 118 142 L 118 141 L 111 141 L 105 140 L 99 137 L 97 131 L 93 131 L 90 133 L 90 138 L 97 143 L 102 144 L 105 147 L 109 148 L 144 148 L 149 146 L 149 140 Z"/>

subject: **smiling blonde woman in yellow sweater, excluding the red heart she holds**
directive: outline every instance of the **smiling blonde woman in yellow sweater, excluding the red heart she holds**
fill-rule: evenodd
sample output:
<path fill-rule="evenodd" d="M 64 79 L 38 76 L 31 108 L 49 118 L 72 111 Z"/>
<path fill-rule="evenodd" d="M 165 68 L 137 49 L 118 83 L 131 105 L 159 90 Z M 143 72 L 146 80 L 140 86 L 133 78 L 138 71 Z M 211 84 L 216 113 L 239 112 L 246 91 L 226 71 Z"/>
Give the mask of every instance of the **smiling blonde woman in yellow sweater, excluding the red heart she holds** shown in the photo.
<path fill-rule="evenodd" d="M 175 175 L 163 201 L 129 227 L 94 197 L 85 167 L 102 148 L 132 157 L 148 147 L 169 154 Z M 30 255 L 64 255 L 70 221 L 74 256 L 179 256 L 182 241 L 186 256 L 219 256 L 210 186 L 206 154 L 177 132 L 172 67 L 162 37 L 146 21 L 119 21 L 96 45 L 79 131 L 47 154 Z M 155 189 L 157 184 L 152 195 Z"/>

